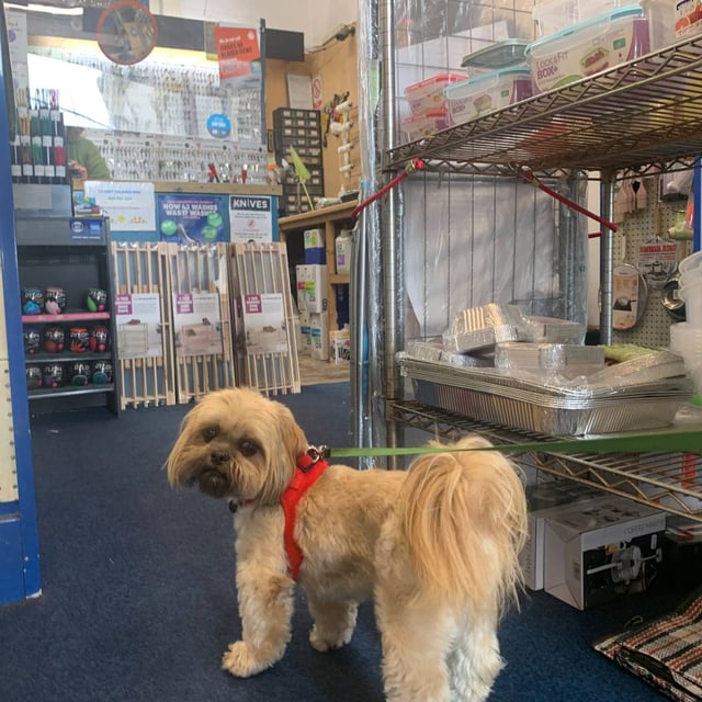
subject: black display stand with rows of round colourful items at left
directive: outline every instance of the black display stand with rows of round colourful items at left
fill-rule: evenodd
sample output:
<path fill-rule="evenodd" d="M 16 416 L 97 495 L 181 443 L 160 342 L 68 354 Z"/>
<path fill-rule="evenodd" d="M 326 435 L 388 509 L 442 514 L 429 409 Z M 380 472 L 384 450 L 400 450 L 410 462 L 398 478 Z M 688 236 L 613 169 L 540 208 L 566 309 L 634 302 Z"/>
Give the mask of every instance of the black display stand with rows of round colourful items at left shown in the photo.
<path fill-rule="evenodd" d="M 117 415 L 107 222 L 22 216 L 15 228 L 31 412 L 102 406 Z"/>

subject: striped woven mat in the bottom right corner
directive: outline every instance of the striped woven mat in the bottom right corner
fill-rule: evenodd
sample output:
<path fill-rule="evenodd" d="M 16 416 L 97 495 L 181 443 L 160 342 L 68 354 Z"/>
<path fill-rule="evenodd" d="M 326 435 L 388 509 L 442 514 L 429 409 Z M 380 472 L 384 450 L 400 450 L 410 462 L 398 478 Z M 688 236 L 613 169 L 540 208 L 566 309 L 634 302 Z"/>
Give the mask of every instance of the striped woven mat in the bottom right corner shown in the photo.
<path fill-rule="evenodd" d="M 593 644 L 616 664 L 679 702 L 702 700 L 702 589 L 672 612 Z"/>

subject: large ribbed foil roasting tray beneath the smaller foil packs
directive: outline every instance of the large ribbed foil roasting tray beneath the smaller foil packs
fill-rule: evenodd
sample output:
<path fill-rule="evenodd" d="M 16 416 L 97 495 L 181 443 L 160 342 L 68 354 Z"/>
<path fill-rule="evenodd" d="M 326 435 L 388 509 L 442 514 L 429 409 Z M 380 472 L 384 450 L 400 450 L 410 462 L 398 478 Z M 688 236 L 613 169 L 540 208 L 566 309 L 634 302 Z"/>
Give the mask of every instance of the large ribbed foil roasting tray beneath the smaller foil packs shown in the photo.
<path fill-rule="evenodd" d="M 687 378 L 642 384 L 629 393 L 579 400 L 520 390 L 482 382 L 472 376 L 480 370 L 449 369 L 441 377 L 435 364 L 400 364 L 412 380 L 416 398 L 426 405 L 505 427 L 536 431 L 554 437 L 579 437 L 669 426 L 678 409 L 692 397 Z M 471 376 L 471 377 L 466 377 Z M 457 382 L 456 382 L 457 381 Z"/>

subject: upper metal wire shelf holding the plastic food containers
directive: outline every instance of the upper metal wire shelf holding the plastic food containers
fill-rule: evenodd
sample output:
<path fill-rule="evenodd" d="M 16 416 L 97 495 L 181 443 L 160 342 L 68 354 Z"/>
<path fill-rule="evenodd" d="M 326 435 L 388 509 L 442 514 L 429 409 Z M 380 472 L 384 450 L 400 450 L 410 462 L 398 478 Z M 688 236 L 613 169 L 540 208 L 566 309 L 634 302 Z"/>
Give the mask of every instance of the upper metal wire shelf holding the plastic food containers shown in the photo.
<path fill-rule="evenodd" d="M 557 176 L 689 168 L 702 152 L 702 35 L 387 154 L 429 170 Z"/>

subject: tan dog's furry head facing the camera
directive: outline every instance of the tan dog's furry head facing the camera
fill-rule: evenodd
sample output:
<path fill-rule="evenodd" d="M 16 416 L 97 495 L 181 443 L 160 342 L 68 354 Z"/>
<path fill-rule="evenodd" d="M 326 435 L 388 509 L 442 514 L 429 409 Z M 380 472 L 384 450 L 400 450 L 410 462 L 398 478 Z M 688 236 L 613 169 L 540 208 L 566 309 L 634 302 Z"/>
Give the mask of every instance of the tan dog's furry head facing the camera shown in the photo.
<path fill-rule="evenodd" d="M 166 467 L 172 486 L 192 486 L 212 497 L 273 505 L 308 448 L 292 412 L 257 390 L 206 395 L 181 424 Z"/>

